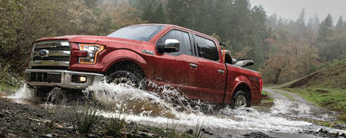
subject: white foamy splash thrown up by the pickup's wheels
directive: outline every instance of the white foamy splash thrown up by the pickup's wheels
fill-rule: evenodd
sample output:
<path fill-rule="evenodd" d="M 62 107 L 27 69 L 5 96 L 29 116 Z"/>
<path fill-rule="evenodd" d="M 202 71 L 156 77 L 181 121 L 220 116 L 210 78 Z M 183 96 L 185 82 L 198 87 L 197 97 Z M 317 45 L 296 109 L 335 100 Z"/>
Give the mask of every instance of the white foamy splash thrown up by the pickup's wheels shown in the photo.
<path fill-rule="evenodd" d="M 203 124 L 205 128 L 230 130 L 262 130 L 280 132 L 316 131 L 315 126 L 306 121 L 291 121 L 277 117 L 276 113 L 258 112 L 253 108 L 238 108 L 233 110 L 228 106 L 218 108 L 217 105 L 202 101 L 193 101 L 179 95 L 170 86 L 157 87 L 161 92 L 149 92 L 113 83 L 96 82 L 83 90 L 85 97 L 102 103 L 100 113 L 104 117 L 125 116 L 127 121 L 140 124 L 165 127 L 167 124 L 177 124 L 181 128 L 194 127 Z M 48 93 L 46 105 L 52 105 L 54 99 L 63 95 L 62 90 L 53 89 Z M 63 100 L 66 101 L 64 95 Z M 23 86 L 12 99 L 35 99 L 33 91 Z M 62 102 L 64 104 L 64 102 Z M 53 105 L 54 106 L 54 105 Z M 64 105 L 62 105 L 64 106 Z"/>

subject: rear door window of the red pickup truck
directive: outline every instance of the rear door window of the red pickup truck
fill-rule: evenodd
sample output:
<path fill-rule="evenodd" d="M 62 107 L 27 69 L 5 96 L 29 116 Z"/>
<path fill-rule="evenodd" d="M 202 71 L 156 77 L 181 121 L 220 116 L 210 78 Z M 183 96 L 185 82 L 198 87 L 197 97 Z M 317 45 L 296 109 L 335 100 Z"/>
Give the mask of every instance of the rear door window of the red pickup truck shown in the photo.
<path fill-rule="evenodd" d="M 217 47 L 214 41 L 209 39 L 205 39 L 203 37 L 199 37 L 196 35 L 196 43 L 198 56 L 203 57 L 205 59 L 210 59 L 213 61 L 219 60 L 219 52 L 217 52 Z"/>

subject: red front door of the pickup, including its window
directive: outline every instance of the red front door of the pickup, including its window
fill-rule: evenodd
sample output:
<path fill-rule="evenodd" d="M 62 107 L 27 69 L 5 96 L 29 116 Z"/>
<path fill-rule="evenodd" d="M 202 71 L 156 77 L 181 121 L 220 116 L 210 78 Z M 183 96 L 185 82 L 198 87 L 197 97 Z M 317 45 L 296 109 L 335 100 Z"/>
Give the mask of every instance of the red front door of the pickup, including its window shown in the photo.
<path fill-rule="evenodd" d="M 190 38 L 188 32 L 173 29 L 156 41 L 156 48 L 164 45 L 167 39 L 179 41 L 179 51 L 156 53 L 156 83 L 178 88 L 184 95 L 189 95 L 190 91 L 194 90 L 197 76 L 197 68 L 194 65 L 197 65 L 198 59 L 192 56 Z"/>

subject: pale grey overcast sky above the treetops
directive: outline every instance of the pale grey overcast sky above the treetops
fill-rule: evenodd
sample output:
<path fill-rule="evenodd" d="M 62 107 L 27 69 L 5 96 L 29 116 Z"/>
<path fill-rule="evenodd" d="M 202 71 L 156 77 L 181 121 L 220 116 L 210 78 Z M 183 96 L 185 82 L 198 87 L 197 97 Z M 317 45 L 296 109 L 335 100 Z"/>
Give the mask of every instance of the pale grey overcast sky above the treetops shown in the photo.
<path fill-rule="evenodd" d="M 305 21 L 309 17 L 318 14 L 320 21 L 330 13 L 334 24 L 340 15 L 343 21 L 346 19 L 346 0 L 250 0 L 251 6 L 263 6 L 268 16 L 276 13 L 277 17 L 284 19 L 298 19 L 303 8 L 305 8 Z"/>

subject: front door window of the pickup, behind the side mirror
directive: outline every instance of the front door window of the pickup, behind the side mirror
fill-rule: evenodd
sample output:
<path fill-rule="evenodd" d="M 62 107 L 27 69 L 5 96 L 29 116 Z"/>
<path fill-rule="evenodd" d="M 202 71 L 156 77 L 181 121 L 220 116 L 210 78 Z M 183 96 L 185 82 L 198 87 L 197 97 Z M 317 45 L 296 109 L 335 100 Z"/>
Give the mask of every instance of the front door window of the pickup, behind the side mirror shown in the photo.
<path fill-rule="evenodd" d="M 192 55 L 190 37 L 188 32 L 182 32 L 180 30 L 170 30 L 161 39 L 158 39 L 156 46 L 165 45 L 166 39 L 177 39 L 180 42 L 180 50 L 178 52 L 165 52 L 165 55 Z"/>

